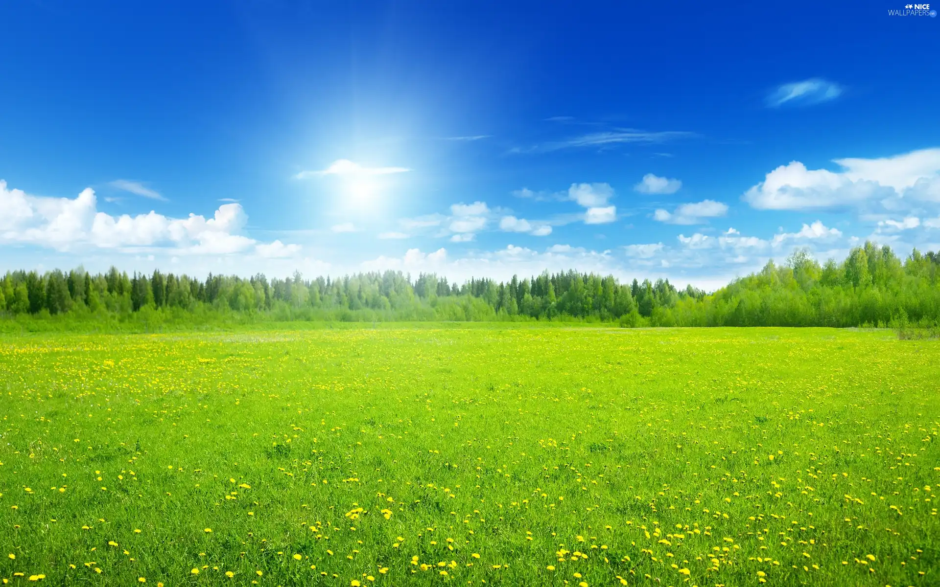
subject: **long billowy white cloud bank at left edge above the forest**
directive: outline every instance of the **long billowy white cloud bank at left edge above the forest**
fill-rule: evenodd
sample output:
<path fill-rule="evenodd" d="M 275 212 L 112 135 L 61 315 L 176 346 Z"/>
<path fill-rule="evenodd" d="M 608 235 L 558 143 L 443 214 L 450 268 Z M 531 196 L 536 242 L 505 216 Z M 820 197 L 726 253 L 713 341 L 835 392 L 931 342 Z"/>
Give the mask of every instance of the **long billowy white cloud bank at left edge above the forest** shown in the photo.
<path fill-rule="evenodd" d="M 9 190 L 0 180 L 0 242 L 34 244 L 58 251 L 83 248 L 142 249 L 163 247 L 174 254 L 227 255 L 297 253 L 297 245 L 265 245 L 240 234 L 248 216 L 241 204 L 224 204 L 211 218 L 190 214 L 170 218 L 155 211 L 111 216 L 97 209 L 86 188 L 74 199 L 35 196 Z M 262 249 L 258 250 L 258 246 Z"/>

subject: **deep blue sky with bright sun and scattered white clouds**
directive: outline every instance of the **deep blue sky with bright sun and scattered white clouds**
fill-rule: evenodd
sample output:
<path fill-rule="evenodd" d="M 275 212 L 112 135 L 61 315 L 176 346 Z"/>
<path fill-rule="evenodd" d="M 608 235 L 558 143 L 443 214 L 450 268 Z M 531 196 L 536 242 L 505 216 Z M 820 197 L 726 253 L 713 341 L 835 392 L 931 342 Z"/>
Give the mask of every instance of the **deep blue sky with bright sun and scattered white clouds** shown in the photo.
<path fill-rule="evenodd" d="M 0 271 L 714 289 L 937 250 L 940 20 L 907 6 L 2 3 Z"/>

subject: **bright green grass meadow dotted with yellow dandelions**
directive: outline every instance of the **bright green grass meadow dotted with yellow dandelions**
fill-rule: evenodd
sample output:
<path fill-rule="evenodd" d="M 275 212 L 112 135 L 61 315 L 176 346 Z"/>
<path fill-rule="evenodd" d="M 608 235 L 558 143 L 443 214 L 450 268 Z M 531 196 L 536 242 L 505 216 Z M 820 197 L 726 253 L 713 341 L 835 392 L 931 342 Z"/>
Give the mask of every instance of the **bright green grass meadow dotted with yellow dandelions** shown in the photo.
<path fill-rule="evenodd" d="M 0 577 L 940 584 L 940 343 L 499 326 L 0 338 Z"/>

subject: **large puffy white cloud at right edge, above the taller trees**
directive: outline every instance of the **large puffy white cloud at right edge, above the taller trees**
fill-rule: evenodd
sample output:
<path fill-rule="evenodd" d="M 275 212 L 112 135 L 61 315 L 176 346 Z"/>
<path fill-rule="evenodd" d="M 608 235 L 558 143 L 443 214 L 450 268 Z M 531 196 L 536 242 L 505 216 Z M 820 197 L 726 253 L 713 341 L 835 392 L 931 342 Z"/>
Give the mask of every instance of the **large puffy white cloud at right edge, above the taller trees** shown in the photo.
<path fill-rule="evenodd" d="M 910 197 L 940 201 L 940 148 L 880 159 L 837 159 L 840 172 L 780 165 L 744 193 L 756 209 L 823 209 Z"/>

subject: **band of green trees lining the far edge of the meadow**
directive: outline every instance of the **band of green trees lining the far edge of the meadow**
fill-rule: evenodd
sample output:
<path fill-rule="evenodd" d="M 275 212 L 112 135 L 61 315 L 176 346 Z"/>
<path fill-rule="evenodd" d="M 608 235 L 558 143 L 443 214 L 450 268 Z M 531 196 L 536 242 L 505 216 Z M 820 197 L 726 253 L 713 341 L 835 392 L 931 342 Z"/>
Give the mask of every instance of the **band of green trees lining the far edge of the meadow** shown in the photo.
<path fill-rule="evenodd" d="M 78 268 L 9 271 L 0 322 L 209 324 L 235 321 L 570 320 L 646 326 L 933 326 L 940 322 L 940 253 L 903 260 L 866 242 L 841 262 L 797 250 L 783 264 L 707 293 L 667 280 L 621 282 L 576 270 L 460 285 L 399 271 L 331 279 L 250 278 Z"/>

